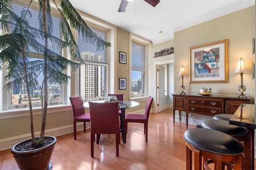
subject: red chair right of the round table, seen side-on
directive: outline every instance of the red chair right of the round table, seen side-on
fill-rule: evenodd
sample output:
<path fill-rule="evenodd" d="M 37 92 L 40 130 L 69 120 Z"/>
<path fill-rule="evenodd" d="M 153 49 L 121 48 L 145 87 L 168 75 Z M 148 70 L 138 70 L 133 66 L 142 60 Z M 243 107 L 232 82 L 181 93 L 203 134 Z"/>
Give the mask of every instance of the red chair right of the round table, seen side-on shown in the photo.
<path fill-rule="evenodd" d="M 146 142 L 148 142 L 148 117 L 152 105 L 153 97 L 149 96 L 145 108 L 145 114 L 126 114 L 124 119 L 125 134 L 127 134 L 128 122 L 144 123 L 144 134 L 146 134 Z"/>

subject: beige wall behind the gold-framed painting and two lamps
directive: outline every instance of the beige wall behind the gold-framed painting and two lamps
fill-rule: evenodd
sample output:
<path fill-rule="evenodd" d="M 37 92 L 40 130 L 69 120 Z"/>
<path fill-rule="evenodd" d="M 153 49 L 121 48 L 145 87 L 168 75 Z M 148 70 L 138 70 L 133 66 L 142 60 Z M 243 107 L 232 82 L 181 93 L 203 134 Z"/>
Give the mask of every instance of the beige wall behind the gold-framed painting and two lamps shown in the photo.
<path fill-rule="evenodd" d="M 174 33 L 174 75 L 178 75 L 181 65 L 184 65 L 186 70 L 189 69 L 189 47 L 228 39 L 228 83 L 189 84 L 189 78 L 185 77 L 186 91 L 199 92 L 201 87 L 212 87 L 212 93 L 239 93 L 240 75 L 234 71 L 237 61 L 242 57 L 250 71 L 244 74 L 245 93 L 254 97 L 254 80 L 252 80 L 252 62 L 255 62 L 252 54 L 254 21 L 254 6 L 251 6 Z M 175 82 L 179 80 L 180 77 L 174 76 Z M 180 90 L 179 83 L 175 83 L 174 90 Z"/>

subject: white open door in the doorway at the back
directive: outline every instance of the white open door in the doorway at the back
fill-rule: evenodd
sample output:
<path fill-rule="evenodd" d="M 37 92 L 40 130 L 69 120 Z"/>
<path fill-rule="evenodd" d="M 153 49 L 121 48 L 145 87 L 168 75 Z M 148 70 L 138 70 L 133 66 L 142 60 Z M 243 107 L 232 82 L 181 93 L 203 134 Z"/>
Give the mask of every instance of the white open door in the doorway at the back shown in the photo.
<path fill-rule="evenodd" d="M 158 65 L 158 113 L 165 109 L 165 99 L 164 99 L 164 77 L 165 68 L 162 65 Z"/>

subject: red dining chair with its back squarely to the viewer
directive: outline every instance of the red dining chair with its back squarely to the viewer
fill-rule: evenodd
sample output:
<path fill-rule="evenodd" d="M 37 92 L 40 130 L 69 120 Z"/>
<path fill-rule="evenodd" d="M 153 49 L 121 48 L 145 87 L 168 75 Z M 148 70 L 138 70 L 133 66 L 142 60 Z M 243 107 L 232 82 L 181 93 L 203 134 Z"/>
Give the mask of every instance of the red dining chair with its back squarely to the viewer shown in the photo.
<path fill-rule="evenodd" d="M 119 156 L 120 120 L 118 102 L 96 103 L 89 102 L 91 121 L 91 156 L 94 156 L 94 141 L 97 134 L 97 144 L 100 134 L 116 134 L 116 156 Z"/>

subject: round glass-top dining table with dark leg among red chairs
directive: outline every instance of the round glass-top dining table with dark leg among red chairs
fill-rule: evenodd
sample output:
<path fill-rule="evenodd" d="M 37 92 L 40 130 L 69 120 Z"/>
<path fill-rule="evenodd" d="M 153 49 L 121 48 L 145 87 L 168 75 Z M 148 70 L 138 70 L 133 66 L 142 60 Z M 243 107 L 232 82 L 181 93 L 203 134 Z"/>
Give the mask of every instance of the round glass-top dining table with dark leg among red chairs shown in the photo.
<path fill-rule="evenodd" d="M 91 101 L 91 102 L 97 102 L 97 103 L 105 103 L 108 101 L 104 101 L 104 100 L 98 100 L 98 101 Z M 137 107 L 138 105 L 140 105 L 140 103 L 136 102 L 136 101 L 118 101 L 118 106 L 119 106 L 119 110 L 121 110 L 121 115 L 120 115 L 120 121 L 121 121 L 121 129 L 120 131 L 122 132 L 122 139 L 123 142 L 126 143 L 126 134 L 125 130 L 124 130 L 124 119 L 125 119 L 125 109 L 128 108 L 132 108 L 132 107 Z M 84 102 L 84 107 L 89 108 L 89 103 L 88 101 Z"/>

